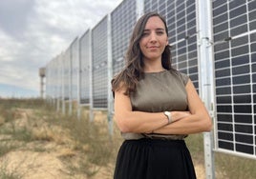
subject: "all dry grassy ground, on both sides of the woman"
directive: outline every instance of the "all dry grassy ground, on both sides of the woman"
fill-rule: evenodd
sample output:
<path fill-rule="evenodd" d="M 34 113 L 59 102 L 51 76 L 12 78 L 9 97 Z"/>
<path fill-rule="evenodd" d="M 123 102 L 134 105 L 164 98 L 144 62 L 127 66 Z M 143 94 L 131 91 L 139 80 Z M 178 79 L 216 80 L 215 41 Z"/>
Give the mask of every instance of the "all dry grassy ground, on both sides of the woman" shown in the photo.
<path fill-rule="evenodd" d="M 74 105 L 75 106 L 75 105 Z M 75 112 L 74 112 L 75 113 Z M 64 116 L 40 99 L 0 100 L 0 178 L 112 179 L 122 142 L 108 132 L 107 113 L 88 108 Z M 205 178 L 203 134 L 186 138 L 198 178 Z M 255 160 L 215 153 L 216 178 L 256 178 Z M 45 172 L 48 171 L 48 172 Z"/>

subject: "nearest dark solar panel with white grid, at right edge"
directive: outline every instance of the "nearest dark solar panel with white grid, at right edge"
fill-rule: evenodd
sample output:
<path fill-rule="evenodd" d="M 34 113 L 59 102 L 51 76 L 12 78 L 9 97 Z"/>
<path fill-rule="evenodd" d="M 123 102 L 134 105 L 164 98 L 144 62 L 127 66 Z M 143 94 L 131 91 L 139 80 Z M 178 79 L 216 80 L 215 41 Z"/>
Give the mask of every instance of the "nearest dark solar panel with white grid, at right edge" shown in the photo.
<path fill-rule="evenodd" d="M 213 7 L 217 148 L 256 155 L 256 1 Z"/>

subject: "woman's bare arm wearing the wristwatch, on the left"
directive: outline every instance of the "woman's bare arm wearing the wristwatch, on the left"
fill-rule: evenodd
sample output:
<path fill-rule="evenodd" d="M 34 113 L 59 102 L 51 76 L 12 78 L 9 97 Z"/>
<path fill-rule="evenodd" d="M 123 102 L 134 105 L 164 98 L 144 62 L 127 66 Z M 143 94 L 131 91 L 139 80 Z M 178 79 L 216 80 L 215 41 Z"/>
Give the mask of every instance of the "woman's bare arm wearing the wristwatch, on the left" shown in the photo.
<path fill-rule="evenodd" d="M 115 91 L 115 120 L 122 132 L 151 133 L 168 124 L 163 112 L 132 111 L 130 97 L 124 94 L 124 89 Z M 173 116 L 173 121 L 179 120 L 184 114 Z"/>

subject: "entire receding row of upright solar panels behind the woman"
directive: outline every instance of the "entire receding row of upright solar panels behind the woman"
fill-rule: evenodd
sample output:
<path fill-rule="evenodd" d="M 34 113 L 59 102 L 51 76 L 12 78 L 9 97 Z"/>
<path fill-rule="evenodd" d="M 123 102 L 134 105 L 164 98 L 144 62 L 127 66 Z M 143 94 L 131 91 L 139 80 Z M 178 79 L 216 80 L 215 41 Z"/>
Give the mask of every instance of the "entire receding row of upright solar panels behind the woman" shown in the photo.
<path fill-rule="evenodd" d="M 201 84 L 197 29 L 197 7 L 201 2 L 144 0 L 143 7 L 144 12 L 158 11 L 166 18 L 173 67 L 188 74 L 197 89 Z M 216 84 L 214 105 L 217 109 L 216 149 L 255 157 L 256 1 L 211 2 Z M 108 16 L 105 16 L 94 29 L 87 30 L 79 40 L 75 39 L 68 50 L 47 65 L 47 95 L 93 104 L 93 109 L 107 109 L 110 91 L 108 60 L 111 56 L 113 75 L 123 68 L 123 57 L 138 14 L 137 0 L 123 0 L 109 14 L 111 24 Z M 109 26 L 111 32 L 108 31 Z M 108 49 L 110 33 L 111 50 Z M 59 70 L 59 67 L 62 69 Z"/>

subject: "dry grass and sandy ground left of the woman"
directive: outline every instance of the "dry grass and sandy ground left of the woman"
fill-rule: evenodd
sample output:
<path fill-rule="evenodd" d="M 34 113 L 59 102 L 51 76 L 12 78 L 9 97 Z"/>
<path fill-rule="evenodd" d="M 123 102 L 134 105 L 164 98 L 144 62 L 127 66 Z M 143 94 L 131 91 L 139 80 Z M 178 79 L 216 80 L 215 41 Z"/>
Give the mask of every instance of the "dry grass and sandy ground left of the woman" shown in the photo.
<path fill-rule="evenodd" d="M 102 171 L 103 178 L 112 178 L 117 149 L 113 149 L 115 143 L 102 119 L 105 112 L 96 112 L 96 118 L 101 119 L 91 123 L 88 117 L 63 116 L 38 99 L 1 100 L 0 111 L 0 119 L 4 119 L 0 126 L 1 179 L 102 178 Z M 55 165 L 49 163 L 50 159 Z M 47 163 L 41 166 L 40 160 Z M 52 170 L 49 176 L 34 176 L 30 172 L 40 174 L 39 168 L 45 166 L 50 167 L 45 170 Z"/>

